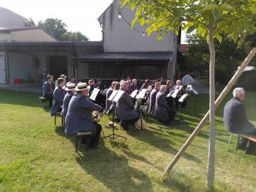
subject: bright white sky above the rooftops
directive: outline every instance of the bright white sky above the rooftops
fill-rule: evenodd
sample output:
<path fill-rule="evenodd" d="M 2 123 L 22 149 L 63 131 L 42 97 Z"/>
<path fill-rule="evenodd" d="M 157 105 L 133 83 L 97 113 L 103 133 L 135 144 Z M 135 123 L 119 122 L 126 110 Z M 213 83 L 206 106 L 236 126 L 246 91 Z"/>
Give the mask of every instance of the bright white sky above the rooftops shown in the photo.
<path fill-rule="evenodd" d="M 36 23 L 46 18 L 58 18 L 65 22 L 69 31 L 80 31 L 91 41 L 100 41 L 102 28 L 98 17 L 111 2 L 112 0 L 0 0 L 0 6 L 25 18 L 32 18 Z"/>

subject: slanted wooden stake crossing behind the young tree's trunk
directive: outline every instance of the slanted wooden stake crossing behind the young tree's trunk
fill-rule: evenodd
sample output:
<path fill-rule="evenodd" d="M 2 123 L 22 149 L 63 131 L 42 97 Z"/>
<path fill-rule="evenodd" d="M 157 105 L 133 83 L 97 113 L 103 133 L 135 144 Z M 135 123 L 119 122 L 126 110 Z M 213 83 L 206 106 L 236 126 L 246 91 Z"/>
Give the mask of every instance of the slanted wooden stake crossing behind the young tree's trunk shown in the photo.
<path fill-rule="evenodd" d="M 222 90 L 221 94 L 217 98 L 214 104 L 214 109 L 216 110 L 217 107 L 221 104 L 221 102 L 224 100 L 226 95 L 228 94 L 229 90 L 232 89 L 234 84 L 237 82 L 239 79 L 239 76 L 242 75 L 243 70 L 247 67 L 247 65 L 250 63 L 254 55 L 256 54 L 256 47 L 254 47 L 251 51 L 250 54 L 247 55 L 243 63 L 239 66 L 238 70 L 236 71 L 235 75 L 232 77 L 232 79 L 228 82 L 228 85 L 224 87 L 224 90 Z M 187 150 L 187 147 L 191 145 L 191 142 L 194 140 L 196 135 L 199 134 L 199 132 L 202 129 L 202 126 L 206 124 L 206 122 L 209 120 L 209 115 L 210 115 L 210 110 L 206 113 L 206 115 L 202 118 L 200 123 L 198 124 L 197 127 L 195 127 L 195 131 L 191 134 L 191 136 L 187 139 L 187 142 L 184 143 L 184 146 L 181 147 L 180 151 L 176 153 L 176 156 L 174 157 L 173 161 L 169 163 L 167 168 L 165 168 L 165 172 L 163 172 L 163 176 L 167 174 L 167 172 L 171 171 L 176 164 L 177 161 L 179 161 L 180 157 L 182 154 Z"/>

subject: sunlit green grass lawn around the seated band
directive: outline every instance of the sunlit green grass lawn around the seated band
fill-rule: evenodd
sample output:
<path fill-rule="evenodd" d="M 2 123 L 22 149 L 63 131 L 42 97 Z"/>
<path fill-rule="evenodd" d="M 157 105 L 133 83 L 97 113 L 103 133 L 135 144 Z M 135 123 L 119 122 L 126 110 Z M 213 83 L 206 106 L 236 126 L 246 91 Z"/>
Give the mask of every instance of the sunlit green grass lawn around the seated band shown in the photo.
<path fill-rule="evenodd" d="M 165 127 L 147 117 L 147 129 L 117 133 L 128 138 L 102 142 L 102 148 L 75 152 L 74 138 L 55 127 L 49 109 L 39 105 L 37 94 L 0 90 L 0 191 L 204 191 L 208 151 L 208 126 L 188 148 L 168 179 L 161 174 L 208 109 L 208 95 L 198 98 L 197 115 L 191 117 L 194 99 L 184 109 L 183 124 Z M 230 98 L 231 95 L 228 96 Z M 256 124 L 256 93 L 248 92 L 247 116 Z M 216 116 L 216 190 L 255 191 L 256 156 L 235 151 L 222 124 L 223 105 Z M 105 135 L 111 129 L 101 120 Z M 58 124 L 61 120 L 58 119 Z M 114 147 L 113 147 L 113 146 Z"/>

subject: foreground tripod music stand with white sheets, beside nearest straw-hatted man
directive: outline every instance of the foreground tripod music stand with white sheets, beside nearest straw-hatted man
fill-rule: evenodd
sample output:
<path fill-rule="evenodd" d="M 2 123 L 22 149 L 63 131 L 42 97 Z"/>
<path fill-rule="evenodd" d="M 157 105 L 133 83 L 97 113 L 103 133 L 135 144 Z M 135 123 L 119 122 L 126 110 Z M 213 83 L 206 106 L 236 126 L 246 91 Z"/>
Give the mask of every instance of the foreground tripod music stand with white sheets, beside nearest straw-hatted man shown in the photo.
<path fill-rule="evenodd" d="M 121 98 L 121 96 L 122 96 L 123 94 L 124 94 L 124 90 L 113 90 L 113 93 L 109 96 L 108 101 L 111 102 L 112 105 L 113 105 L 114 102 L 118 102 L 118 100 Z M 110 108 L 110 109 L 111 109 L 111 108 Z M 127 138 L 125 138 L 124 136 L 115 134 L 115 127 L 116 127 L 116 125 L 115 125 L 114 122 L 113 122 L 114 113 L 115 113 L 115 112 L 113 111 L 113 112 L 112 112 L 112 125 L 111 125 L 111 127 L 112 127 L 112 134 L 106 135 L 106 136 L 103 137 L 102 139 L 111 138 L 111 139 L 114 140 L 114 139 L 116 139 L 116 138 L 121 137 L 121 138 L 124 138 L 125 140 L 127 140 Z"/>

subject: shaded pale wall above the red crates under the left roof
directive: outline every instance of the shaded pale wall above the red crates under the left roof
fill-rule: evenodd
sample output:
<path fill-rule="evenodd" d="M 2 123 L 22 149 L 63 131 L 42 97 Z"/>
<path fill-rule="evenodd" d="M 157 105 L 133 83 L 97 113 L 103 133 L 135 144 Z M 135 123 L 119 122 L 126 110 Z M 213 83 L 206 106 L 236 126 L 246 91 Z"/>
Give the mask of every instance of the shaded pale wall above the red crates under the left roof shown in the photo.
<path fill-rule="evenodd" d="M 36 80 L 35 73 L 32 56 L 9 53 L 9 83 L 12 84 L 15 78 L 23 79 L 23 76 L 27 74 L 31 76 L 32 80 Z"/>

